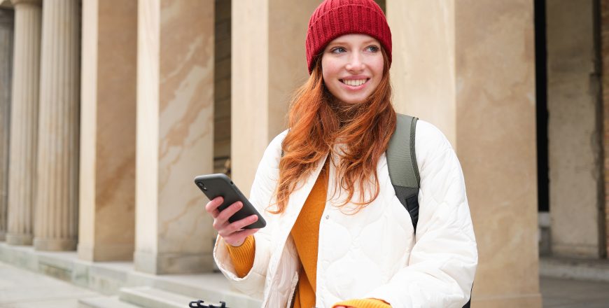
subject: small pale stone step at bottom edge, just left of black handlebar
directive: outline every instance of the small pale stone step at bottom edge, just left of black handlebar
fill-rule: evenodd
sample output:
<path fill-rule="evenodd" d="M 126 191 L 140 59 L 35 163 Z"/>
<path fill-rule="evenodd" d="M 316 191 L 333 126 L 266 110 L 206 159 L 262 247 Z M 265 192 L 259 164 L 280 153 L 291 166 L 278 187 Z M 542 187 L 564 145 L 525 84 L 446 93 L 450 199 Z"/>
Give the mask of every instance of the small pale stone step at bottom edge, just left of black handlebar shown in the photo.
<path fill-rule="evenodd" d="M 195 300 L 192 297 L 150 286 L 121 288 L 119 298 L 123 302 L 146 308 L 185 308 L 188 307 L 189 302 Z"/>

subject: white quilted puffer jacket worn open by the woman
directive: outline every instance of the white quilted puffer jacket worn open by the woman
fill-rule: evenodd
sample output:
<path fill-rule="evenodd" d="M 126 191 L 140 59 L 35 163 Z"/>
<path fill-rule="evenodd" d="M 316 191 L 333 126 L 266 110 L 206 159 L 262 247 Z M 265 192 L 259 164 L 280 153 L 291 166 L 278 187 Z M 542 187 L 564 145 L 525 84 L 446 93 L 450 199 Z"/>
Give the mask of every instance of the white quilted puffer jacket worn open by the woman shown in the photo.
<path fill-rule="evenodd" d="M 251 190 L 250 201 L 267 220 L 267 227 L 255 234 L 253 268 L 238 278 L 221 238 L 214 249 L 218 267 L 236 288 L 269 308 L 290 305 L 300 266 L 290 230 L 323 165 L 297 186 L 283 214 L 267 213 L 285 135 L 279 134 L 265 151 Z M 468 301 L 477 249 L 461 166 L 442 132 L 423 120 L 416 125 L 415 150 L 421 175 L 416 237 L 408 212 L 395 197 L 384 155 L 377 165 L 379 196 L 354 215 L 349 214 L 353 204 L 334 206 L 346 193 L 339 190 L 332 197 L 336 169 L 330 164 L 332 198 L 319 225 L 316 307 L 368 297 L 394 308 L 461 308 Z"/>

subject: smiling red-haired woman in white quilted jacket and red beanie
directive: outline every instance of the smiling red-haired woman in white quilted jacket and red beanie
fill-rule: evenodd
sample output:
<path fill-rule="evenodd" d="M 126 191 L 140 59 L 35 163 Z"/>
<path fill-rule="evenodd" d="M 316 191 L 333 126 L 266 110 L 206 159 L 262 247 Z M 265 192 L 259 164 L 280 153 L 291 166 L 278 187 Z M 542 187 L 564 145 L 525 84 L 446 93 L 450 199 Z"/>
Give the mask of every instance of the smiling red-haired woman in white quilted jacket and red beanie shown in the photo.
<path fill-rule="evenodd" d="M 289 129 L 269 144 L 250 201 L 267 227 L 206 210 L 214 258 L 262 307 L 462 307 L 477 265 L 463 174 L 447 139 L 416 125 L 419 223 L 395 197 L 384 155 L 395 129 L 391 31 L 372 0 L 326 0 L 307 31 L 310 77 Z"/>

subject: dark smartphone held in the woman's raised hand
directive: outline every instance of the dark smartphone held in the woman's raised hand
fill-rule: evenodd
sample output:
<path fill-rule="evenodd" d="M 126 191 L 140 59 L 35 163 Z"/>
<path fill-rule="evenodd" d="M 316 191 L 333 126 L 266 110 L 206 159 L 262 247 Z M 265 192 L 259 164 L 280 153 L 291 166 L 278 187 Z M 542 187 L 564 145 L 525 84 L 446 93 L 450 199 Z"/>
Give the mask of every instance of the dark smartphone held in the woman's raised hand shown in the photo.
<path fill-rule="evenodd" d="M 224 198 L 224 202 L 218 207 L 220 211 L 223 211 L 230 206 L 230 204 L 237 201 L 243 203 L 243 207 L 228 218 L 228 221 L 231 223 L 251 215 L 256 215 L 258 216 L 258 221 L 244 227 L 244 229 L 265 228 L 265 225 L 267 225 L 265 218 L 262 218 L 262 215 L 256 211 L 255 207 L 253 207 L 249 200 L 241 193 L 241 190 L 239 190 L 239 188 L 235 186 L 235 183 L 232 183 L 230 178 L 225 174 L 206 174 L 197 176 L 195 178 L 195 184 L 197 184 L 197 187 L 207 196 L 207 198 L 209 198 L 209 200 L 216 197 Z"/>

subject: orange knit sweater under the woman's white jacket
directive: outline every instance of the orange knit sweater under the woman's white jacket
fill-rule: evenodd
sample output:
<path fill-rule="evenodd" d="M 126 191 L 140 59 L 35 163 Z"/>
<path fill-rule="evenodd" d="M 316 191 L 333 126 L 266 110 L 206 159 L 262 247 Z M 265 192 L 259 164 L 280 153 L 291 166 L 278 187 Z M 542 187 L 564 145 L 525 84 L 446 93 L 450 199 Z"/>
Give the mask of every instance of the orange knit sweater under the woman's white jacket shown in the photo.
<path fill-rule="evenodd" d="M 327 172 L 321 172 L 315 182 L 307 201 L 294 223 L 290 234 L 300 258 L 300 276 L 296 290 L 294 308 L 315 307 L 315 290 L 317 279 L 317 249 L 319 239 L 319 221 L 325 208 L 325 197 L 328 191 Z M 255 241 L 248 237 L 239 247 L 227 245 L 235 272 L 239 277 L 245 276 L 253 266 Z M 337 302 L 336 306 L 356 308 L 388 308 L 389 304 L 382 300 L 367 298 Z"/>

